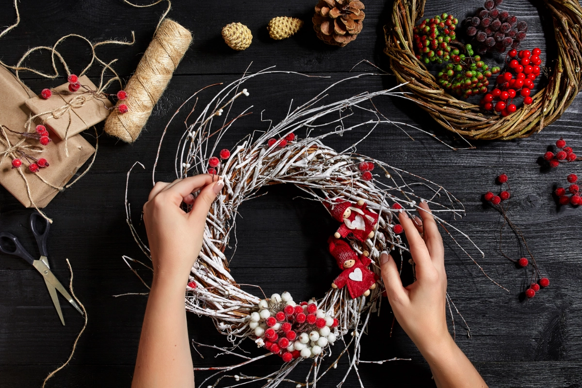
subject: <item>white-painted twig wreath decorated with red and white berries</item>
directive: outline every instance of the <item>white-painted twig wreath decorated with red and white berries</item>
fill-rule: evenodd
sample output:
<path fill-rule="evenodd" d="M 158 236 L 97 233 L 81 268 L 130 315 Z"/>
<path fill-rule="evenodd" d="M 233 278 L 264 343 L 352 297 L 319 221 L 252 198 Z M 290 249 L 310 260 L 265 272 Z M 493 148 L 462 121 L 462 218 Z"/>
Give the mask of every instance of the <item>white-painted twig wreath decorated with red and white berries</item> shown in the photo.
<path fill-rule="evenodd" d="M 232 377 L 237 381 L 233 386 L 255 380 L 264 380 L 264 387 L 276 387 L 283 381 L 296 383 L 297 387 L 314 386 L 329 369 L 337 366 L 339 358 L 352 345 L 353 357 L 350 357 L 349 368 L 342 383 L 345 382 L 350 371 L 353 369 L 357 371 L 358 365 L 362 362 L 381 364 L 384 361 L 391 361 L 362 361 L 360 359 L 361 334 L 367 326 L 371 313 L 378 311 L 381 305 L 383 287 L 375 287 L 369 296 L 356 298 L 350 297 L 347 287 L 331 288 L 322 298 L 317 300 L 314 298 L 302 305 L 294 302 L 287 292 L 283 292 L 281 295 L 274 294 L 270 298 L 266 296 L 261 298 L 240 288 L 240 284 L 230 274 L 229 259 L 224 252 L 229 244 L 230 232 L 235 227 L 237 209 L 243 201 L 254 198 L 257 190 L 262 186 L 291 183 L 314 200 L 328 205 L 333 205 L 338 199 L 350 201 L 353 204 L 358 201 L 360 204 L 365 203 L 368 209 L 378 215 L 375 233 L 372 233 L 371 239 L 365 239 L 363 242 L 350 240 L 349 244 L 359 255 L 370 252 L 371 270 L 377 275 L 380 273 L 378 264 L 380 252 L 398 249 L 402 254 L 403 250 L 407 250 L 398 234 L 401 232 L 398 224 L 396 224 L 395 230 L 395 221 L 398 220 L 395 217 L 396 213 L 409 211 L 409 209 L 420 209 L 417 204 L 421 200 L 430 203 L 435 219 L 442 226 L 445 226 L 446 233 L 455 243 L 457 241 L 449 233 L 449 230 L 459 233 L 474 245 L 466 234 L 447 223 L 441 216 L 442 213 L 453 213 L 453 216 L 464 215 L 463 205 L 449 191 L 432 181 L 394 168 L 382 161 L 356 154 L 357 144 L 363 141 L 367 135 L 341 152 L 335 151 L 323 143 L 327 136 L 342 134 L 358 127 L 371 126 L 371 130 L 374 130 L 379 124 L 397 126 L 403 124 L 386 119 L 375 109 L 373 104 L 371 104 L 372 108 L 365 106 L 376 96 L 399 96 L 402 95 L 401 92 L 392 92 L 392 90 L 365 92 L 342 101 L 322 104 L 322 100 L 327 97 L 327 92 L 337 84 L 361 76 L 377 74 L 359 74 L 332 84 L 305 104 L 294 109 L 289 108 L 288 114 L 280 123 L 272 127 L 269 126 L 266 131 L 255 131 L 245 137 L 235 149 L 228 152 L 229 155 L 218 166 L 215 164 L 216 159 L 211 161 L 211 165 L 209 165 L 209 160 L 218 151 L 218 145 L 226 131 L 237 119 L 249 112 L 250 107 L 244 109 L 235 118 L 229 119 L 228 113 L 235 99 L 242 95 L 249 95 L 246 89 L 242 89 L 242 84 L 260 74 L 272 73 L 290 72 L 276 72 L 267 69 L 247 74 L 222 88 L 205 106 L 194 123 L 188 123 L 188 119 L 186 119 L 186 131 L 184 131 L 176 151 L 175 168 L 178 178 L 214 169 L 211 171 L 217 173 L 225 181 L 225 187 L 212 204 L 208 214 L 203 247 L 190 274 L 186 309 L 198 315 L 210 316 L 219 332 L 226 334 L 228 340 L 233 344 L 233 347 L 228 349 L 217 346 L 210 347 L 245 358 L 245 361 L 240 364 L 228 367 L 195 369 L 218 370 L 215 373 L 217 375 L 272 354 L 278 354 L 285 361 L 281 369 L 267 376 L 223 375 L 215 380 L 214 385 L 209 387 L 217 386 L 225 377 Z M 180 106 L 180 109 L 198 92 L 187 99 Z M 194 108 L 192 108 L 190 115 L 194 112 Z M 353 114 L 354 109 L 369 112 L 372 118 L 366 122 L 345 127 L 343 122 Z M 176 113 L 178 112 L 179 109 Z M 330 118 L 333 113 L 336 114 L 335 118 Z M 220 123 L 214 128 L 215 122 L 218 120 Z M 164 130 L 164 134 L 168 126 Z M 319 136 L 313 136 L 316 129 L 330 126 L 335 127 L 335 129 Z M 368 134 L 371 130 L 368 131 Z M 305 136 L 297 137 L 296 135 L 301 131 L 305 133 Z M 162 140 L 163 138 L 164 135 L 162 135 Z M 211 140 L 214 141 L 211 143 Z M 361 162 L 373 162 L 378 166 L 371 180 L 367 180 L 370 175 L 364 176 L 359 168 Z M 157 159 L 154 164 L 154 173 L 156 164 Z M 407 183 L 404 177 L 413 179 L 415 182 Z M 419 197 L 415 190 L 420 187 L 423 188 L 424 192 L 428 190 L 431 195 L 424 199 Z M 440 200 L 444 200 L 446 205 L 441 204 Z M 147 245 L 140 240 L 132 225 L 127 195 L 126 212 L 127 221 L 137 243 L 149 257 Z M 457 243 L 457 245 L 469 255 L 460 244 Z M 477 248 L 476 245 L 474 246 Z M 477 250 L 481 252 L 478 248 Z M 471 256 L 469 255 L 469 257 Z M 128 260 L 137 262 L 129 257 L 124 257 L 124 259 L 126 263 Z M 451 302 L 450 299 L 448 301 Z M 313 315 L 311 317 L 313 322 L 310 322 L 309 319 L 304 320 L 303 316 L 299 317 L 302 313 L 306 318 L 308 315 Z M 271 335 L 268 335 L 269 329 L 272 329 Z M 289 334 L 289 332 L 294 334 Z M 346 342 L 342 337 L 349 332 L 351 332 L 352 337 Z M 242 339 L 247 337 L 253 339 L 259 347 L 269 348 L 269 353 L 255 358 L 235 353 L 233 350 L 240 345 Z M 342 340 L 342 350 L 339 351 L 335 361 L 326 371 L 320 371 L 322 359 L 331 355 L 330 345 L 334 344 L 336 340 Z M 306 380 L 296 382 L 289 379 L 289 372 L 298 362 L 306 358 L 314 358 L 313 366 Z M 210 378 L 215 375 L 210 376 Z M 247 381 L 238 382 L 241 379 Z"/>

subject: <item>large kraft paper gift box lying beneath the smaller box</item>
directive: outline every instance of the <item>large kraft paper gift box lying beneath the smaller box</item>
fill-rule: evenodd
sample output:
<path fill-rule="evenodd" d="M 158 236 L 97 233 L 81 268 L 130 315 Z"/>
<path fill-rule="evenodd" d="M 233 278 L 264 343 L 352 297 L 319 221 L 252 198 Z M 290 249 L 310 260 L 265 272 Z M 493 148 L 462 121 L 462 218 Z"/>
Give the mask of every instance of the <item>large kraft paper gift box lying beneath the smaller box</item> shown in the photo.
<path fill-rule="evenodd" d="M 17 132 L 26 132 L 24 128 L 29 119 L 30 111 L 25 102 L 34 93 L 23 84 L 19 83 L 16 77 L 5 67 L 0 66 L 0 124 Z M 31 126 L 34 130 L 36 124 Z M 70 136 L 66 142 L 69 156 L 66 156 L 65 141 L 54 136 L 54 132 L 49 130 L 51 143 L 46 146 L 40 145 L 37 139 L 27 138 L 22 145 L 34 145 L 35 148 L 42 148 L 42 152 L 32 152 L 23 149 L 28 155 L 34 158 L 47 159 L 49 166 L 41 168 L 39 172 L 30 172 L 28 162 L 22 159 L 23 163 L 19 169 L 12 169 L 12 159 L 14 156 L 6 154 L 6 138 L 10 144 L 15 145 L 22 136 L 12 133 L 6 129 L 0 130 L 0 183 L 10 191 L 25 207 L 42 208 L 59 192 L 58 188 L 73 177 L 74 173 L 93 155 L 95 148 L 80 135 Z M 20 170 L 20 172 L 19 172 Z M 21 174 L 22 172 L 22 174 Z M 44 180 L 44 181 L 43 181 Z M 29 197 L 30 192 L 30 197 Z"/>

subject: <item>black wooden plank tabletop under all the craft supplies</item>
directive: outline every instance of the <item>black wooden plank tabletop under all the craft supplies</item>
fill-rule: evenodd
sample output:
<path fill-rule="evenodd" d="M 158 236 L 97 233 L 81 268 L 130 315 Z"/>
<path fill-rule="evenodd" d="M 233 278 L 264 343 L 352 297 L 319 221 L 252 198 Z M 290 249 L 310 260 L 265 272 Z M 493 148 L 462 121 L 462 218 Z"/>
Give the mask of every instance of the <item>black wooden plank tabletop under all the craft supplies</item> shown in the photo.
<path fill-rule="evenodd" d="M 276 65 L 278 70 L 293 70 L 325 78 L 265 76 L 250 83 L 251 93 L 244 103 L 254 105 L 253 115 L 245 118 L 223 141 L 225 148 L 254 129 L 262 129 L 260 112 L 278 120 L 286 113 L 290 100 L 303 102 L 335 80 L 351 76 L 349 70 L 362 59 L 388 69 L 382 54 L 382 26 L 391 12 L 391 2 L 367 1 L 364 30 L 345 48 L 322 44 L 315 37 L 311 15 L 315 0 L 296 2 L 257 1 L 176 1 L 169 17 L 194 34 L 194 42 L 176 71 L 164 97 L 139 140 L 125 144 L 107 135 L 99 139 L 99 154 L 93 168 L 75 186 L 59 194 L 45 209 L 54 219 L 49 236 L 49 260 L 63 283 L 69 278 L 65 258 L 74 269 L 74 288 L 87 308 L 88 326 L 81 337 L 70 365 L 49 380 L 49 387 L 125 387 L 129 386 L 145 296 L 113 297 L 123 293 L 147 291 L 127 268 L 122 255 L 143 259 L 125 222 L 123 199 L 127 170 L 136 161 L 130 180 L 129 199 L 134 218 L 139 220 L 141 205 L 151 188 L 151 169 L 161 131 L 176 108 L 192 92 L 208 84 L 235 80 L 252 62 L 251 71 Z M 553 35 L 542 2 L 506 0 L 505 9 L 529 23 L 528 47 L 539 45 L 546 58 Z M 480 6 L 480 1 L 431 1 L 427 15 L 453 13 L 462 19 Z M 100 48 L 103 58 L 119 58 L 119 74 L 128 79 L 141 58 L 165 5 L 136 9 L 121 1 L 49 2 L 24 0 L 20 3 L 22 23 L 0 40 L 0 54 L 6 63 L 16 63 L 29 48 L 52 45 L 62 35 L 83 34 L 93 41 L 107 38 L 131 40 L 132 47 Z M 8 0 L 0 2 L 0 24 L 12 24 L 15 13 Z M 541 10 L 542 20 L 538 17 Z M 295 37 L 272 41 L 265 26 L 271 17 L 297 16 L 306 26 Z M 253 44 L 243 52 L 226 47 L 220 31 L 230 22 L 242 22 L 253 31 Z M 543 28 L 542 28 L 543 27 Z M 87 59 L 87 45 L 79 40 L 66 41 L 61 52 L 73 72 L 80 72 Z M 30 64 L 49 70 L 49 56 L 33 56 Z M 371 70 L 357 67 L 355 72 Z M 90 72 L 98 78 L 98 70 Z M 31 73 L 23 79 L 40 92 L 44 87 L 62 84 Z M 364 77 L 336 89 L 329 98 L 342 98 L 360 91 L 393 86 L 393 77 Z M 208 94 L 210 95 L 210 94 Z M 207 95 L 207 97 L 208 97 Z M 462 145 L 458 138 L 441 129 L 417 106 L 395 98 L 379 98 L 378 108 L 393 120 L 420 126 L 449 144 Z M 242 105 L 241 105 L 242 106 Z M 0 107 L 1 109 L 1 107 Z M 467 216 L 455 225 L 485 252 L 480 264 L 509 293 L 482 276 L 452 241 L 445 239 L 449 294 L 471 327 L 472 337 L 459 325 L 455 315 L 456 339 L 492 387 L 582 387 L 582 248 L 580 231 L 582 209 L 556 206 L 552 191 L 564 184 L 567 173 L 582 173 L 580 163 L 549 171 L 538 164 L 548 146 L 563 136 L 582 154 L 582 102 L 578 98 L 558 122 L 540 134 L 514 141 L 474 142 L 477 149 L 452 151 L 430 136 L 409 130 L 411 140 L 395 126 L 379 127 L 359 145 L 359 152 L 443 184 L 464 202 Z M 171 127 L 162 149 L 157 180 L 172 180 L 173 149 L 183 127 L 180 120 Z M 102 125 L 102 124 L 101 124 Z M 346 147 L 363 136 L 364 131 L 332 137 L 332 147 Z M 84 134 L 93 142 L 91 133 Z M 343 148 L 342 148 L 343 149 Z M 532 300 L 520 297 L 529 279 L 528 270 L 517 269 L 501 257 L 498 250 L 501 217 L 484 205 L 482 193 L 496 189 L 494 178 L 509 175 L 514 206 L 510 217 L 521 227 L 543 273 L 551 286 Z M 325 253 L 325 240 L 333 229 L 324 209 L 313 202 L 294 199 L 300 191 L 293 187 L 272 187 L 260 200 L 249 201 L 240 209 L 237 225 L 238 249 L 232 272 L 240 283 L 260 284 L 267 294 L 288 290 L 295 299 L 320 297 L 337 269 Z M 6 190 L 0 189 L 0 226 L 13 225 L 13 232 L 29 236 L 24 209 Z M 143 226 L 140 226 L 143 232 Z M 521 256 L 517 240 L 505 235 L 505 250 Z M 36 250 L 30 239 L 27 247 Z M 466 244 L 467 245 L 467 244 Z M 474 249 L 471 253 L 477 253 Z M 147 270 L 140 272 L 150 279 Z M 40 387 L 45 376 L 69 355 L 83 319 L 70 305 L 61 301 L 67 325 L 62 326 L 36 270 L 18 259 L 0 256 L 0 387 Z M 192 339 L 226 345 L 209 318 L 188 316 Z M 361 366 L 366 387 L 434 386 L 427 364 L 406 334 L 395 326 L 389 330 L 392 314 L 387 304 L 379 317 L 371 319 L 363 340 L 363 359 L 411 358 L 384 365 Z M 249 343 L 250 348 L 253 344 Z M 194 364 L 227 365 L 235 360 L 214 358 L 214 352 L 201 350 L 204 359 L 194 354 Z M 266 359 L 246 373 L 274 371 L 279 359 Z M 345 362 L 345 361 L 344 361 Z M 307 371 L 308 363 L 298 376 Z M 332 370 L 321 387 L 333 387 L 343 377 L 343 366 Z M 197 381 L 205 373 L 197 375 Z M 291 386 L 289 384 L 283 386 Z M 352 373 L 345 386 L 358 386 Z"/>

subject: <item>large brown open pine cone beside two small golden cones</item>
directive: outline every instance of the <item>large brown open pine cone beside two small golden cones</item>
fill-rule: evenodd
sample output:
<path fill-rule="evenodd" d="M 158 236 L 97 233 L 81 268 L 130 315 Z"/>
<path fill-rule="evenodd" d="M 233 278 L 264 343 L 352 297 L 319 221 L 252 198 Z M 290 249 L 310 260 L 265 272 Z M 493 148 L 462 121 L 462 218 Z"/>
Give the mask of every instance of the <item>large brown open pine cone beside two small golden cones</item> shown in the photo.
<path fill-rule="evenodd" d="M 315 6 L 313 29 L 322 41 L 343 47 L 362 30 L 363 9 L 359 0 L 320 0 Z"/>

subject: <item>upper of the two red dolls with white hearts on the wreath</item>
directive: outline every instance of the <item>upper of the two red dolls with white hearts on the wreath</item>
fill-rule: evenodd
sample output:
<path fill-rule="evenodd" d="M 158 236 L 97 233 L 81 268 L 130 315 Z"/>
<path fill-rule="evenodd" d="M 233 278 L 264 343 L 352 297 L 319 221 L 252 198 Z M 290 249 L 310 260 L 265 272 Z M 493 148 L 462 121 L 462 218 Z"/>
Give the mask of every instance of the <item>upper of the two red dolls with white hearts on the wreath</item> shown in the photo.
<path fill-rule="evenodd" d="M 336 200 L 333 205 L 324 202 L 332 217 L 342 223 L 338 231 L 333 235 L 336 239 L 344 239 L 350 233 L 357 240 L 365 241 L 374 237 L 374 229 L 378 225 L 378 215 L 368 210 L 363 200 L 356 205 L 352 202 Z"/>

